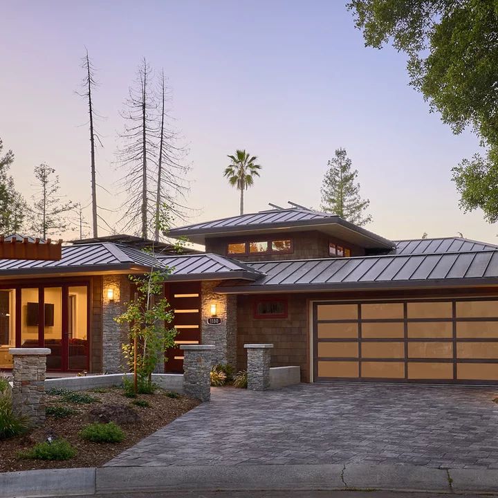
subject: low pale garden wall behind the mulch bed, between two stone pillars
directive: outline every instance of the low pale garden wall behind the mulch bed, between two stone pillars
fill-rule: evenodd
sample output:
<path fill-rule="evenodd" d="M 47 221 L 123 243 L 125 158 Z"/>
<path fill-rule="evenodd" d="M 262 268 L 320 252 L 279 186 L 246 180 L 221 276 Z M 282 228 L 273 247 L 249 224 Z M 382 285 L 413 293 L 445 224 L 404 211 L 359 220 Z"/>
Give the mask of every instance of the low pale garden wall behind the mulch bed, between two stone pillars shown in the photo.
<path fill-rule="evenodd" d="M 107 374 L 91 375 L 84 377 L 61 377 L 45 380 L 45 390 L 69 389 L 70 391 L 86 391 L 86 389 L 95 389 L 95 387 L 112 387 L 122 384 L 123 377 L 133 378 L 132 374 Z M 183 375 L 182 374 L 152 374 L 152 380 L 161 389 L 183 393 Z"/>

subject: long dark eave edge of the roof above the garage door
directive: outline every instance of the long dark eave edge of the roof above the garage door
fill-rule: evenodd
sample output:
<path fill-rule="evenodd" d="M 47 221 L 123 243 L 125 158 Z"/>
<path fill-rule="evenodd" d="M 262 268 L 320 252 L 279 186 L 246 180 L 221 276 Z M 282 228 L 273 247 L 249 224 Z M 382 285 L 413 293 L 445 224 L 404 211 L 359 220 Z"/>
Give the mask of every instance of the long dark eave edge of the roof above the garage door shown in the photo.
<path fill-rule="evenodd" d="M 472 278 L 472 279 L 434 279 L 434 280 L 399 280 L 396 282 L 338 282 L 320 284 L 274 284 L 274 285 L 239 285 L 218 286 L 214 291 L 219 294 L 270 294 L 270 293 L 302 293 L 324 291 L 363 291 L 368 289 L 410 289 L 410 288 L 451 288 L 496 286 L 498 277 Z"/>

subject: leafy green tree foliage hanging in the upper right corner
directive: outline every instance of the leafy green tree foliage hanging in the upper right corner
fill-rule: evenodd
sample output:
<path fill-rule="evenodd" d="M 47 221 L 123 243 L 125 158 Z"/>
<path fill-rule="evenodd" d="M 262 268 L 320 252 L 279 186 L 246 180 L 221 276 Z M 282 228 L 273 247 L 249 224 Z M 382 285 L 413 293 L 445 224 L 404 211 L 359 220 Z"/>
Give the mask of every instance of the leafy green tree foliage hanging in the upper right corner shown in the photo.
<path fill-rule="evenodd" d="M 456 134 L 486 147 L 453 169 L 464 210 L 498 219 L 498 3 L 495 0 L 351 0 L 365 44 L 408 55 L 410 83 Z"/>

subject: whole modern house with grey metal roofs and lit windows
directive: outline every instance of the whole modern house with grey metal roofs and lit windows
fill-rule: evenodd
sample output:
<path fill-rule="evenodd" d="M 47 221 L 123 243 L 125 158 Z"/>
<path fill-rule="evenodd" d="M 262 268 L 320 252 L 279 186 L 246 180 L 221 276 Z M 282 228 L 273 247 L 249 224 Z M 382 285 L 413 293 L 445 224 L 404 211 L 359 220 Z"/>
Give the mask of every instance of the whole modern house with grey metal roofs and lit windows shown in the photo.
<path fill-rule="evenodd" d="M 205 252 L 114 237 L 60 261 L 0 260 L 0 368 L 8 347 L 44 344 L 49 369 L 119 371 L 128 275 L 170 268 L 178 349 L 165 371 L 181 371 L 181 344 L 215 344 L 215 362 L 241 369 L 243 344 L 271 342 L 272 365 L 299 365 L 304 382 L 498 383 L 498 246 L 391 241 L 297 205 L 169 235 Z"/>

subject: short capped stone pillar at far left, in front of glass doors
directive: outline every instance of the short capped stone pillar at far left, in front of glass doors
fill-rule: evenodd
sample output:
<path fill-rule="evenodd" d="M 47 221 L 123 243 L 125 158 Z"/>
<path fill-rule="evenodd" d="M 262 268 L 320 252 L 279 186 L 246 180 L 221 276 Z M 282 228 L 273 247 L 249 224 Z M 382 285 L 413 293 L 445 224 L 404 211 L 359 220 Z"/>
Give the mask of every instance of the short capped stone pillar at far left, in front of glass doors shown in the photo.
<path fill-rule="evenodd" d="M 28 415 L 33 425 L 45 421 L 45 374 L 48 348 L 10 348 L 12 367 L 12 409 Z"/>

